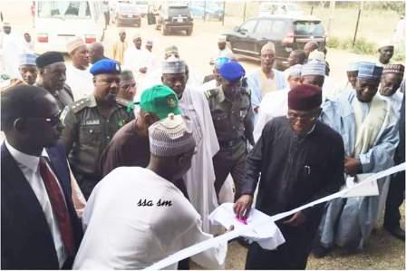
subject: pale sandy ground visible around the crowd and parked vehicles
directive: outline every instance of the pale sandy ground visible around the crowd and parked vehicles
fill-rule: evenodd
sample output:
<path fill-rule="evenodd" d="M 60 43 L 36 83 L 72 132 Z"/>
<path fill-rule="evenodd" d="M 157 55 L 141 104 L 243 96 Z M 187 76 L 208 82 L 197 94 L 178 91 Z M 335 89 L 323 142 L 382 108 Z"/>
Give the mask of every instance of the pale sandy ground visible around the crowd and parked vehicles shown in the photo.
<path fill-rule="evenodd" d="M 1 10 L 5 19 L 9 21 L 16 33 L 29 31 L 32 34 L 32 20 L 30 15 L 29 1 L 1 0 Z M 126 27 L 128 37 L 135 33 L 141 34 L 144 41 L 150 39 L 154 42 L 153 53 L 163 56 L 165 47 L 175 44 L 179 47 L 180 57 L 183 58 L 193 71 L 202 74 L 211 73 L 208 65 L 209 58 L 217 51 L 217 36 L 224 31 L 231 29 L 234 25 L 240 24 L 241 18 L 226 18 L 226 25 L 219 22 L 206 22 L 200 20 L 195 22 L 195 28 L 191 36 L 186 34 L 172 34 L 163 36 L 160 31 L 154 30 L 154 25 L 147 25 L 146 20 L 142 21 L 140 28 Z M 111 55 L 111 44 L 118 39 L 118 29 L 110 25 L 105 34 L 105 51 L 107 56 Z M 327 55 L 330 63 L 331 75 L 335 83 L 345 80 L 345 68 L 347 63 L 355 60 L 372 60 L 373 56 L 357 55 L 340 50 L 331 49 Z M 242 60 L 247 73 L 258 68 L 256 62 Z M 402 208 L 402 210 L 404 210 Z M 404 211 L 403 211 L 404 213 Z M 402 216 L 404 224 L 404 216 Z M 243 269 L 246 260 L 246 248 L 232 243 L 229 246 L 227 256 L 227 269 Z M 371 237 L 371 242 L 362 252 L 355 255 L 345 255 L 342 251 L 334 251 L 331 256 L 323 259 L 310 257 L 308 269 L 404 269 L 405 268 L 405 245 L 385 232 L 382 227 L 378 228 Z M 193 268 L 199 268 L 193 265 Z"/>

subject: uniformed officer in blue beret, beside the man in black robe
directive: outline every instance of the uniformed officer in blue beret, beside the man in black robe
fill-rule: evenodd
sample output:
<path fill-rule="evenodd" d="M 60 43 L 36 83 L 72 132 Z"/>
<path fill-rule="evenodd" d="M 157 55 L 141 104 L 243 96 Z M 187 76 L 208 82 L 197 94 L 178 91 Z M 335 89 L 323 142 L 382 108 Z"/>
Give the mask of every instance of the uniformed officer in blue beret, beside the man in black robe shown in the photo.
<path fill-rule="evenodd" d="M 245 74 L 240 63 L 224 63 L 219 70 L 220 85 L 205 92 L 220 145 L 213 158 L 216 193 L 231 173 L 236 186 L 235 198 L 240 196 L 246 170 L 247 140 L 254 145 L 251 92 Z"/>

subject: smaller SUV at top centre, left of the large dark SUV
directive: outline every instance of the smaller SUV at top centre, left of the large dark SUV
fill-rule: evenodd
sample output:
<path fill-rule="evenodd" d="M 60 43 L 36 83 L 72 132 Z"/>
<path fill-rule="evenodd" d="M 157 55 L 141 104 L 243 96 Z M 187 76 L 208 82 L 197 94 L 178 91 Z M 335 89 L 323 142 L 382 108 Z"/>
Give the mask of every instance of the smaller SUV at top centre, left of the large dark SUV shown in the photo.
<path fill-rule="evenodd" d="M 188 5 L 166 5 L 160 9 L 156 29 L 166 35 L 173 30 L 185 30 L 190 35 L 193 32 L 193 18 Z"/>

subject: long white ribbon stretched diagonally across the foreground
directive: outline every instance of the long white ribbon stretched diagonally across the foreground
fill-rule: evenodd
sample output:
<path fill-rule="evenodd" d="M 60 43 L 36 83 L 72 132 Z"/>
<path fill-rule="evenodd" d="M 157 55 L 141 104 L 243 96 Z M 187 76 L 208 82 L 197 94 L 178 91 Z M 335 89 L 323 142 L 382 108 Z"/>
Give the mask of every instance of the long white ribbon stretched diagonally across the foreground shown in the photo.
<path fill-rule="evenodd" d="M 394 174 L 394 173 L 397 173 L 397 172 L 400 172 L 400 171 L 403 171 L 403 170 L 406 170 L 406 162 L 402 163 L 400 165 L 391 167 L 390 169 L 385 169 L 385 170 L 382 170 L 382 171 L 380 171 L 380 172 L 378 172 L 376 174 L 373 174 L 371 177 L 363 180 L 361 183 L 358 183 L 358 184 L 354 185 L 352 188 L 343 189 L 343 190 L 341 190 L 339 192 L 336 192 L 336 193 L 334 193 L 332 195 L 329 195 L 329 196 L 326 196 L 324 198 L 319 198 L 317 200 L 314 200 L 314 201 L 312 201 L 310 203 L 307 203 L 307 204 L 305 204 L 305 205 L 303 205 L 301 207 L 294 208 L 294 209 L 292 209 L 290 211 L 286 211 L 284 213 L 276 214 L 276 215 L 272 216 L 271 218 L 274 221 L 277 221 L 279 219 L 289 217 L 289 216 L 291 216 L 291 215 L 293 215 L 293 214 L 297 213 L 298 211 L 301 211 L 301 210 L 303 210 L 305 208 L 313 207 L 314 205 L 324 203 L 324 202 L 332 200 L 334 198 L 343 198 L 345 196 L 345 194 L 347 194 L 349 191 L 361 187 L 366 182 L 372 182 L 372 181 L 375 181 L 376 179 L 382 179 L 383 177 L 389 176 L 391 174 Z M 267 221 L 268 220 L 266 220 L 266 222 Z M 202 251 L 205 251 L 208 248 L 218 247 L 219 244 L 227 242 L 227 241 L 229 241 L 231 239 L 234 239 L 236 237 L 239 237 L 243 233 L 248 231 L 250 228 L 257 227 L 257 226 L 259 226 L 259 225 L 261 225 L 263 223 L 264 223 L 264 221 L 257 221 L 256 223 L 252 223 L 252 224 L 247 225 L 247 227 L 240 227 L 240 228 L 237 228 L 235 230 L 229 231 L 229 232 L 227 232 L 227 233 L 225 233 L 223 235 L 220 235 L 218 237 L 213 237 L 213 238 L 210 238 L 210 239 L 205 240 L 203 242 L 200 242 L 198 244 L 195 244 L 193 246 L 183 248 L 183 249 L 179 250 L 178 252 L 172 254 L 171 256 L 168 256 L 168 257 L 160 260 L 158 263 L 155 263 L 152 266 L 149 266 L 149 267 L 145 268 L 144 270 L 158 270 L 158 269 L 163 269 L 163 268 L 165 268 L 167 266 L 171 266 L 171 265 L 173 265 L 175 263 L 178 263 L 179 261 L 181 261 L 181 260 L 183 260 L 185 258 L 197 255 L 198 253 L 200 253 Z"/>

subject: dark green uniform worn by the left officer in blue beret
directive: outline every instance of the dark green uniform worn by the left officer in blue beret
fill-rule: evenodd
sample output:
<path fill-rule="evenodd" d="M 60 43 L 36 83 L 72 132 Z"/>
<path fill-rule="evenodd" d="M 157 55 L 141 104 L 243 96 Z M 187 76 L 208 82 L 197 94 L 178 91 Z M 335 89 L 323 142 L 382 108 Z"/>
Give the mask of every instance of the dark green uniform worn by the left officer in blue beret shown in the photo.
<path fill-rule="evenodd" d="M 69 162 L 85 198 L 102 179 L 98 167 L 102 151 L 124 124 L 134 119 L 131 104 L 117 99 L 108 118 L 102 116 L 96 99 L 89 95 L 65 108 L 62 139 L 69 151 Z"/>

